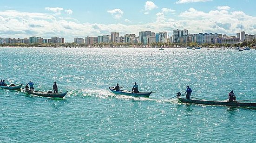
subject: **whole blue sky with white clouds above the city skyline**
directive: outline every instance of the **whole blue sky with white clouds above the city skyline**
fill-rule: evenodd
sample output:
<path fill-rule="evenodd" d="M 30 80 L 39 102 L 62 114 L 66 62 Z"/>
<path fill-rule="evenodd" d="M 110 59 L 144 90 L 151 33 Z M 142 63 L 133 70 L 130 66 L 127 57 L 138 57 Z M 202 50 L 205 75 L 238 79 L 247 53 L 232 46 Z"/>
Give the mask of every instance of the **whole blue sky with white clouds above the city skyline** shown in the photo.
<path fill-rule="evenodd" d="M 256 34 L 256 0 L 7 0 L 0 37 L 97 37 L 119 32 L 187 29 L 189 33 Z"/>

